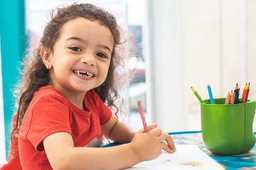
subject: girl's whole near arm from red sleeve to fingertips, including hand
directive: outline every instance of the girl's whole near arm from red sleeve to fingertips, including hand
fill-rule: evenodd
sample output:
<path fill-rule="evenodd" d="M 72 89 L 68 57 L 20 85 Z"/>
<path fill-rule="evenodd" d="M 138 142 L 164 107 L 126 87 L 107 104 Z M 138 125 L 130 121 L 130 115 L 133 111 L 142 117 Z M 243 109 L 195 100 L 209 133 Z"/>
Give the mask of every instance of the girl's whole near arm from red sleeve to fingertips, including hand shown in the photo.
<path fill-rule="evenodd" d="M 116 147 L 74 147 L 68 132 L 55 132 L 43 140 L 53 169 L 124 169 L 161 154 L 167 136 L 159 128 L 135 133 L 132 142 Z"/>

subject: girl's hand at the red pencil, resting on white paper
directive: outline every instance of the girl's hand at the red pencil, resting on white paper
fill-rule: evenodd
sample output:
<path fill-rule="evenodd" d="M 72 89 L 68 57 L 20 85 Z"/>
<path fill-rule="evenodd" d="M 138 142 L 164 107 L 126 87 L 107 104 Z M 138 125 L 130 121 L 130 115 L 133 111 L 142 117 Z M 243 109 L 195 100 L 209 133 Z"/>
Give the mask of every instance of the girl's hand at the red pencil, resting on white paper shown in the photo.
<path fill-rule="evenodd" d="M 169 153 L 175 151 L 171 137 L 162 132 L 160 128 L 156 128 L 156 125 L 150 125 L 149 132 L 144 132 L 144 130 L 136 132 L 130 145 L 139 162 L 159 157 L 161 149 L 165 149 Z"/>

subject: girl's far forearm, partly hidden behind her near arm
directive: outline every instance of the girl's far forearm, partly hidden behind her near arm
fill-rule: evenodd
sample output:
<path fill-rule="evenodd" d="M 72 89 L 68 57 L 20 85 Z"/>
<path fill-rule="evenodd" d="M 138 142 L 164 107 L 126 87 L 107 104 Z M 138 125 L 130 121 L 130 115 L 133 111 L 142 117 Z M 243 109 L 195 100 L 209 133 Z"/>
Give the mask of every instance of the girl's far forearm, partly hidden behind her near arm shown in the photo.
<path fill-rule="evenodd" d="M 119 122 L 114 115 L 107 123 L 101 126 L 101 130 L 103 135 L 119 143 L 131 142 L 134 137 L 134 132 L 127 125 Z"/>

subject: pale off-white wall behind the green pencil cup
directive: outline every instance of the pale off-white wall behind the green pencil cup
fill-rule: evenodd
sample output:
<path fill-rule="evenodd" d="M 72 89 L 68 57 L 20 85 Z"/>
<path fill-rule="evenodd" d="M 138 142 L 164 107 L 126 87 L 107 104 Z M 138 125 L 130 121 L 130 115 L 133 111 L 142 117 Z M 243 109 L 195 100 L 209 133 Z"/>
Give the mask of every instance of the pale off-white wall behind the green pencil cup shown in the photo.
<path fill-rule="evenodd" d="M 149 1 L 149 106 L 164 130 L 201 130 L 191 86 L 202 98 L 207 84 L 213 97 L 225 97 L 250 81 L 256 98 L 255 7 L 252 0 Z"/>

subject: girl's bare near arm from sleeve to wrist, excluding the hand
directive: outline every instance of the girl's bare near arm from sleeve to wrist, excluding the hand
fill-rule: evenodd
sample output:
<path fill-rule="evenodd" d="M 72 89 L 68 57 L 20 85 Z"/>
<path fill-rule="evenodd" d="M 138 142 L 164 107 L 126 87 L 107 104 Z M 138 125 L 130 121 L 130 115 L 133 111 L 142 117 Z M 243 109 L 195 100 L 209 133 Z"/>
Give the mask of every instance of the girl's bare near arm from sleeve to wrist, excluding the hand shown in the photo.
<path fill-rule="evenodd" d="M 67 132 L 56 132 L 43 140 L 53 169 L 124 169 L 139 162 L 129 144 L 117 147 L 74 147 Z"/>

